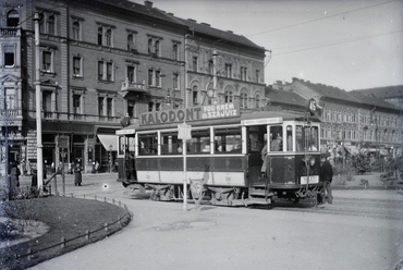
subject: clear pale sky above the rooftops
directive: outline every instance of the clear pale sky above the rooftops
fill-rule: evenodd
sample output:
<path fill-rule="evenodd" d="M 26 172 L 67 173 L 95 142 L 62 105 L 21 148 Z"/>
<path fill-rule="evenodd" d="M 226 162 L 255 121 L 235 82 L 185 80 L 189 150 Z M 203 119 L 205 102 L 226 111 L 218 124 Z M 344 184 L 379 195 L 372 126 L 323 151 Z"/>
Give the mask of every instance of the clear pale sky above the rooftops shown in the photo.
<path fill-rule="evenodd" d="M 403 0 L 151 2 L 264 47 L 267 85 L 292 77 L 347 91 L 403 85 Z"/>

